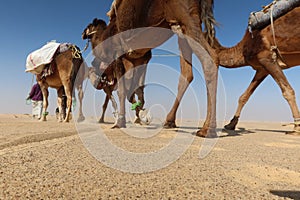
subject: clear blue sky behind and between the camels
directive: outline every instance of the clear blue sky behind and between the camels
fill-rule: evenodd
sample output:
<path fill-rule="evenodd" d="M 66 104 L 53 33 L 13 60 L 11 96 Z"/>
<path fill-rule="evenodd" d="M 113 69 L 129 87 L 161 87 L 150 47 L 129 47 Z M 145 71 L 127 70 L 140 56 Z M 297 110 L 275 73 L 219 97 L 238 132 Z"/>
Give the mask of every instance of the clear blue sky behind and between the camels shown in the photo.
<path fill-rule="evenodd" d="M 25 61 L 27 55 L 40 48 L 47 41 L 70 42 L 79 46 L 85 46 L 81 40 L 81 33 L 93 18 L 102 18 L 107 21 L 106 12 L 110 8 L 112 0 L 10 0 L 2 2 L 0 7 L 0 89 L 2 91 L 0 113 L 30 113 L 31 106 L 25 104 L 25 98 L 30 90 L 32 75 L 25 73 Z M 226 3 L 225 3 L 226 2 Z M 220 23 L 217 28 L 217 37 L 224 46 L 233 46 L 241 40 L 247 28 L 248 16 L 251 11 L 261 9 L 270 0 L 215 0 L 215 18 Z M 84 53 L 88 57 L 90 49 Z M 195 61 L 196 62 L 196 61 Z M 174 76 L 163 78 L 176 90 L 179 59 L 178 57 L 154 57 L 147 74 L 147 81 L 160 80 L 161 68 L 174 72 Z M 149 67 L 150 68 L 150 67 Z M 169 71 L 169 72 L 170 72 Z M 200 117 L 205 117 L 205 87 L 201 72 L 195 72 L 195 80 L 191 84 L 188 93 L 195 94 L 195 99 L 187 94 L 183 99 L 182 113 L 184 117 L 198 118 L 195 108 L 191 105 L 199 104 Z M 168 71 L 166 72 L 168 73 Z M 299 102 L 300 94 L 300 69 L 293 68 L 285 71 L 291 85 L 294 87 Z M 218 111 L 219 119 L 230 119 L 237 107 L 238 97 L 244 92 L 254 75 L 250 67 L 240 69 L 220 68 Z M 153 77 L 157 78 L 153 79 Z M 88 85 L 90 85 L 88 83 Z M 158 88 L 158 89 L 156 89 Z M 168 110 L 174 97 L 161 92 L 159 87 L 153 85 L 146 90 L 147 106 L 151 103 L 164 105 Z M 102 92 L 101 92 L 102 93 Z M 159 95 L 153 95 L 159 94 Z M 104 98 L 99 95 L 99 101 Z M 166 96 L 164 96 L 166 95 Z M 156 99 L 151 97 L 155 96 Z M 56 92 L 50 89 L 50 113 L 56 106 Z M 148 99 L 147 99 L 148 98 Z M 98 99 L 98 97 L 97 97 Z M 97 102 L 98 103 L 98 102 Z M 101 104 L 101 102 L 99 102 Z M 97 105 L 95 105 L 97 107 Z M 101 107 L 100 105 L 98 106 Z M 161 107 L 161 106 L 156 106 Z M 160 108 L 161 109 L 161 108 Z M 283 99 L 279 87 L 268 77 L 257 89 L 245 106 L 241 116 L 242 120 L 252 121 L 292 121 L 291 112 L 287 102 Z"/>

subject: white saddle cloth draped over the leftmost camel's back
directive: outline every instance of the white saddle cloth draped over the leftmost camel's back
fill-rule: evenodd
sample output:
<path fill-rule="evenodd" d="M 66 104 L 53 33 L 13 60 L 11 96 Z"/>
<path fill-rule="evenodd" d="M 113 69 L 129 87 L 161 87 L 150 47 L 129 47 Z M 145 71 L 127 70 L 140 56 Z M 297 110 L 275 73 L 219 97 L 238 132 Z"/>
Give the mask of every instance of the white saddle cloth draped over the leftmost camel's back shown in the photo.
<path fill-rule="evenodd" d="M 55 53 L 65 52 L 69 47 L 69 43 L 48 42 L 27 56 L 25 72 L 31 72 L 33 74 L 42 73 L 45 65 L 51 63 L 53 60 Z"/>

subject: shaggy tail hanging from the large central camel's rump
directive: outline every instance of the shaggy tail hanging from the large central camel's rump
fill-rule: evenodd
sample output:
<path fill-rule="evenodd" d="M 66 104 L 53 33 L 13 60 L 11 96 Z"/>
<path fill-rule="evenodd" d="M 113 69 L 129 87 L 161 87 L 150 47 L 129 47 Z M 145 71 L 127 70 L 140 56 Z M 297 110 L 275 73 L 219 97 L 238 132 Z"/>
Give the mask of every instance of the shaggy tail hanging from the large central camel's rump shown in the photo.
<path fill-rule="evenodd" d="M 215 26 L 218 24 L 214 17 L 214 0 L 200 0 L 201 21 L 204 24 L 206 39 L 210 45 L 213 45 L 216 35 Z"/>

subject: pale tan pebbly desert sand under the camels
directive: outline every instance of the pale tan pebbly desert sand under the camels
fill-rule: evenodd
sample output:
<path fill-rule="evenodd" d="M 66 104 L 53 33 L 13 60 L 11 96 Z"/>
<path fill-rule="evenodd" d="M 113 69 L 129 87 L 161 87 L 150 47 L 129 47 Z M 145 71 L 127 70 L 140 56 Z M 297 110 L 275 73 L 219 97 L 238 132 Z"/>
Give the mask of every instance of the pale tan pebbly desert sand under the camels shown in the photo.
<path fill-rule="evenodd" d="M 173 130 L 129 125 L 134 135 L 91 124 L 0 115 L 0 199 L 300 199 L 300 137 L 285 135 L 291 126 L 242 122 L 235 134 L 208 140 L 187 120 Z M 93 127 L 143 158 L 124 161 L 109 143 L 98 149 Z M 213 148 L 203 153 L 207 144 Z"/>

